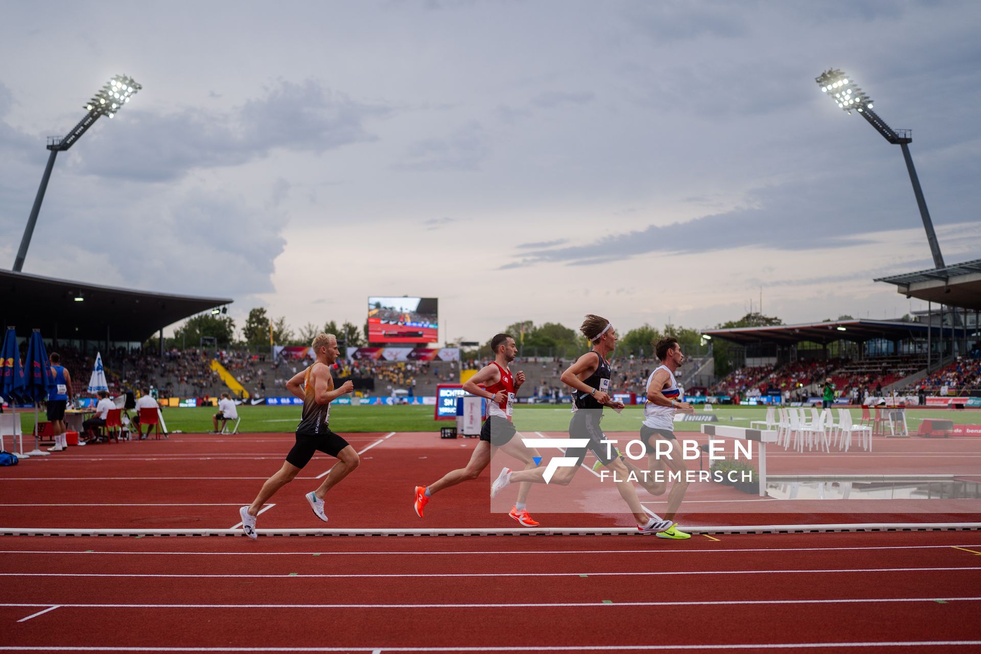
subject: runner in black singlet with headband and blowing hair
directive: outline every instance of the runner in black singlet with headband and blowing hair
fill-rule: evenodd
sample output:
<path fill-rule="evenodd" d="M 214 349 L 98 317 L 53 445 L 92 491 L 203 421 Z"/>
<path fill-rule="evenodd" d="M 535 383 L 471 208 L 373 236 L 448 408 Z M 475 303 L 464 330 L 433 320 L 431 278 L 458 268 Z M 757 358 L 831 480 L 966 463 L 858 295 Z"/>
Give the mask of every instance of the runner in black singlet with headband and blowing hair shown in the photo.
<path fill-rule="evenodd" d="M 619 457 L 608 456 L 608 444 L 600 442 L 606 439 L 602 429 L 599 428 L 603 407 L 623 409 L 623 403 L 612 401 L 607 392 L 610 384 L 610 365 L 606 357 L 616 347 L 616 330 L 606 319 L 588 314 L 580 331 L 593 343 L 593 349 L 579 357 L 576 363 L 562 373 L 561 377 L 562 382 L 572 388 L 573 416 L 569 423 L 569 436 L 589 440 L 586 447 L 569 448 L 565 452 L 566 457 L 578 459 L 578 464 L 574 467 L 557 469 L 547 482 L 544 479 L 544 467 L 516 472 L 505 468 L 490 487 L 490 496 L 494 497 L 512 482 L 531 481 L 568 485 L 579 471 L 587 451 L 592 451 L 596 458 L 613 473 L 614 478 L 622 479 L 621 482 L 615 483 L 616 489 L 630 507 L 634 519 L 637 520 L 638 530 L 642 533 L 657 533 L 670 528 L 669 521 L 661 520 L 645 511 L 637 497 L 634 484 L 627 480 L 630 475 L 627 466 Z"/>

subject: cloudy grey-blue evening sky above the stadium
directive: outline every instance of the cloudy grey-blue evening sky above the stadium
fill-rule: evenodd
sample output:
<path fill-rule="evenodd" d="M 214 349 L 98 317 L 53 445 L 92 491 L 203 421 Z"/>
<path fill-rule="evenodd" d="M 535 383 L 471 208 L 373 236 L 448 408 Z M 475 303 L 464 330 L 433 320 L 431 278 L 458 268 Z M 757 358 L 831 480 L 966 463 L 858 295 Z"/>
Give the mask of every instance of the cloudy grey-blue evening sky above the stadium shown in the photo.
<path fill-rule="evenodd" d="M 440 342 L 512 323 L 893 318 L 874 277 L 981 258 L 981 3 L 0 0 L 0 265 L 233 299 L 294 329 L 439 297 Z M 53 20 L 52 17 L 57 17 Z M 9 263 L 6 263 L 9 262 Z"/>

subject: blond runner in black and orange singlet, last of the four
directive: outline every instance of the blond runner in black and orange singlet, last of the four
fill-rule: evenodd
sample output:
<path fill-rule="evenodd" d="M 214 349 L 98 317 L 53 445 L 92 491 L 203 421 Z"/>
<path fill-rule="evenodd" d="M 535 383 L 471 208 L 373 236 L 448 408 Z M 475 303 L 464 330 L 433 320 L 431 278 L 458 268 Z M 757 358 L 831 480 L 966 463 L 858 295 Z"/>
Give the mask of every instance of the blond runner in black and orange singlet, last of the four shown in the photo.
<path fill-rule="evenodd" d="M 331 366 L 340 356 L 337 339 L 334 334 L 320 333 L 313 339 L 310 348 L 317 358 L 316 362 L 305 371 L 301 371 L 286 381 L 286 388 L 296 397 L 303 400 L 303 413 L 300 424 L 296 428 L 296 444 L 289 450 L 283 468 L 262 484 L 262 490 L 249 506 L 238 510 L 241 517 L 242 529 L 250 538 L 258 534 L 255 530 L 255 517 L 259 515 L 262 505 L 276 491 L 295 478 L 313 458 L 314 452 L 321 451 L 337 458 L 337 463 L 330 474 L 324 479 L 317 490 L 306 494 L 306 500 L 314 514 L 325 523 L 324 495 L 338 481 L 347 477 L 358 467 L 358 453 L 328 427 L 331 417 L 331 402 L 345 393 L 351 392 L 353 384 L 345 381 L 340 388 L 334 387 L 331 377 Z"/>

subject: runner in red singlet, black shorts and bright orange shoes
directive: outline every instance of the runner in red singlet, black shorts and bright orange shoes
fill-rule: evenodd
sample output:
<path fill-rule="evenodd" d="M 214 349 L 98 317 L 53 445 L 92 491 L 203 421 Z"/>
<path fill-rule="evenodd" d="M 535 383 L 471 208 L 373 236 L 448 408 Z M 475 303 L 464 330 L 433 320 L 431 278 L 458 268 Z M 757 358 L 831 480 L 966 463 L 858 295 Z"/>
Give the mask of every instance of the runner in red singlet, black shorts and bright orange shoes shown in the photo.
<path fill-rule="evenodd" d="M 470 463 L 466 468 L 460 468 L 447 473 L 443 478 L 428 486 L 416 486 L 416 514 L 423 517 L 423 507 L 435 493 L 443 488 L 455 486 L 461 481 L 476 479 L 490 465 L 492 447 L 499 447 L 515 459 L 525 464 L 526 470 L 536 467 L 535 457 L 541 456 L 537 450 L 526 446 L 521 438 L 515 438 L 517 430 L 511 423 L 514 412 L 515 396 L 521 384 L 525 382 L 525 374 L 514 374 L 508 367 L 518 354 L 514 338 L 506 333 L 499 333 L 490 340 L 490 349 L 494 360 L 463 383 L 463 389 L 472 395 L 488 400 L 488 418 L 481 428 L 481 439 L 474 448 Z M 483 385 L 483 388 L 481 387 Z M 526 500 L 532 484 L 522 483 L 518 488 L 518 500 L 508 514 L 524 527 L 536 527 L 538 523 L 528 515 Z"/>

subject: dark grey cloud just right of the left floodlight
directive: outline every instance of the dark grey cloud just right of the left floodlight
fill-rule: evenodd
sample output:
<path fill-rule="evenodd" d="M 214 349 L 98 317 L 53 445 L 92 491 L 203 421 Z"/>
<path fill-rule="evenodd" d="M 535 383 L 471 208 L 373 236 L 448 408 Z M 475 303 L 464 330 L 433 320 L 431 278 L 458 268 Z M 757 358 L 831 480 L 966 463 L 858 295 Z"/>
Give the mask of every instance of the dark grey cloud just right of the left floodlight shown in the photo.
<path fill-rule="evenodd" d="M 111 129 L 97 126 L 86 135 L 85 148 L 73 162 L 77 173 L 173 181 L 195 170 L 239 166 L 276 149 L 320 154 L 374 140 L 365 121 L 389 113 L 384 106 L 354 101 L 314 79 L 279 79 L 261 97 L 229 113 L 160 113 L 140 109 L 139 101 L 137 95 Z"/>

